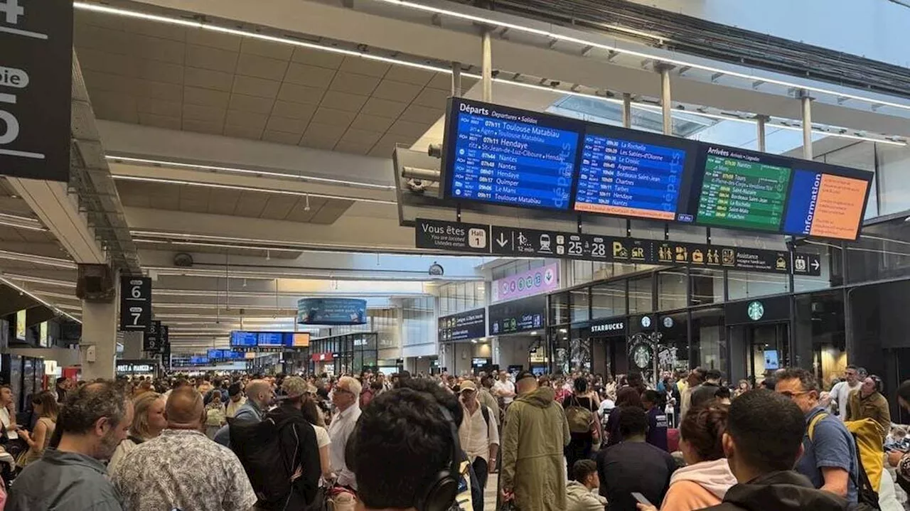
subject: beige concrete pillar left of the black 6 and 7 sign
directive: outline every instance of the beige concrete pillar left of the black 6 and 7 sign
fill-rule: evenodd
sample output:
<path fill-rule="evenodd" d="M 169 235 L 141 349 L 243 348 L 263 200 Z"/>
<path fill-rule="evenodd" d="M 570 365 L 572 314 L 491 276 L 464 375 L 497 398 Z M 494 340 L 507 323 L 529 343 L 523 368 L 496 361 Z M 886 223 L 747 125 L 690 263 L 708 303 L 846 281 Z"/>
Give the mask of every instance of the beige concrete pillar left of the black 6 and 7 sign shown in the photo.
<path fill-rule="evenodd" d="M 116 356 L 117 299 L 110 303 L 82 302 L 82 339 L 79 361 L 82 379 L 114 377 Z M 142 346 L 139 346 L 140 349 Z M 140 357 L 141 358 L 141 357 Z M 94 359 L 94 362 L 90 361 Z"/>

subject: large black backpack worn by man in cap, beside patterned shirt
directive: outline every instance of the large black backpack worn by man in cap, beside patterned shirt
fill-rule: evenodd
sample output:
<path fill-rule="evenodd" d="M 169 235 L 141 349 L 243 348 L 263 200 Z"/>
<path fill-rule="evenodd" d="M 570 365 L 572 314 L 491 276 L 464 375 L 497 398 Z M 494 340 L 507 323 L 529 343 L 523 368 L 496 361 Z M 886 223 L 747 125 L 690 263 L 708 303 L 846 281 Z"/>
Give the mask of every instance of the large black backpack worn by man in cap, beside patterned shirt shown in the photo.
<path fill-rule="evenodd" d="M 234 421 L 230 426 L 230 446 L 243 465 L 249 483 L 261 502 L 278 504 L 291 492 L 291 476 L 301 466 L 298 459 L 297 425 L 293 421 L 276 423 L 272 417 L 261 422 Z M 293 428 L 297 445 L 292 451 L 281 445 L 281 431 Z M 288 460 L 286 454 L 291 454 Z M 280 508 L 280 507 L 279 507 Z"/>

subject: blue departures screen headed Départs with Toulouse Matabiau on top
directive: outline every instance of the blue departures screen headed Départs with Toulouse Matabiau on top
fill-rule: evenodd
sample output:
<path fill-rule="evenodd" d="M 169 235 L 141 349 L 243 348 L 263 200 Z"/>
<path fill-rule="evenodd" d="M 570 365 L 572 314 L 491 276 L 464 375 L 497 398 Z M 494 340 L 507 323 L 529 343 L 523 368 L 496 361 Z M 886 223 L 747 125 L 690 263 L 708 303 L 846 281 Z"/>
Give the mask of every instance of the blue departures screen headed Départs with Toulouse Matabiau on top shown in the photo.
<path fill-rule="evenodd" d="M 568 210 L 581 132 L 549 115 L 452 101 L 448 196 Z"/>

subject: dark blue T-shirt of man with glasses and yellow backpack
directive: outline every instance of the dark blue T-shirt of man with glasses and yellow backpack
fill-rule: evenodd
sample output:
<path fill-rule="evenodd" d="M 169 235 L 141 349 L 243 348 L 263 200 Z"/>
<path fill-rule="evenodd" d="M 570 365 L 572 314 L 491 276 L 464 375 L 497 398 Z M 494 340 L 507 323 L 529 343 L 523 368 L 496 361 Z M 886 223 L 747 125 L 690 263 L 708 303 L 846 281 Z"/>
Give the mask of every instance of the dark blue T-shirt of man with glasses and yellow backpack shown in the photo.
<path fill-rule="evenodd" d="M 824 486 L 822 467 L 843 468 L 850 474 L 847 482 L 847 500 L 856 502 L 856 485 L 858 479 L 856 446 L 853 435 L 847 431 L 844 423 L 835 416 L 828 415 L 815 423 L 812 439 L 809 439 L 809 424 L 814 416 L 827 413 L 821 406 L 816 406 L 805 416 L 806 432 L 803 438 L 803 457 L 796 462 L 796 472 L 806 476 L 813 486 Z"/>

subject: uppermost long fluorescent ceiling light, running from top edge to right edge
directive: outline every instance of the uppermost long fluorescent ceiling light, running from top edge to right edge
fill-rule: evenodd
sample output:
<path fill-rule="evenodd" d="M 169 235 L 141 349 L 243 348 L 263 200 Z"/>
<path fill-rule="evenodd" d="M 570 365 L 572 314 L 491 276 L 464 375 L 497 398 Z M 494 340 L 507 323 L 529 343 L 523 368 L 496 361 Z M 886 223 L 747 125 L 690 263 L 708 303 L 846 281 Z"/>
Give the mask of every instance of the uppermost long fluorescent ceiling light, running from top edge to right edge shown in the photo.
<path fill-rule="evenodd" d="M 838 91 L 834 91 L 831 89 L 826 89 L 824 87 L 818 87 L 818 86 L 814 86 L 814 85 L 796 84 L 793 82 L 778 80 L 778 79 L 771 78 L 768 76 L 752 75 L 749 73 L 740 73 L 737 71 L 730 71 L 728 69 L 721 69 L 719 67 L 713 67 L 711 65 L 695 64 L 693 62 L 686 62 L 686 61 L 675 59 L 675 58 L 667 58 L 662 55 L 653 55 L 653 54 L 640 52 L 640 51 L 636 51 L 636 50 L 620 48 L 616 45 L 604 45 L 602 43 L 597 43 L 594 41 L 580 39 L 578 37 L 572 37 L 570 35 L 555 34 L 548 30 L 541 30 L 539 28 L 531 28 L 530 26 L 517 25 L 517 24 L 498 21 L 498 20 L 491 20 L 489 18 L 482 17 L 482 16 L 468 15 L 468 14 L 459 13 L 456 11 L 451 11 L 449 9 L 433 7 L 430 5 L 421 5 L 421 4 L 417 4 L 415 2 L 410 2 L 408 0 L 377 0 L 377 1 L 384 2 L 386 4 L 410 7 L 412 9 L 417 9 L 420 11 L 429 12 L 429 13 L 433 13 L 436 15 L 447 15 L 447 16 L 457 17 L 457 18 L 460 18 L 463 20 L 478 23 L 480 25 L 501 26 L 501 27 L 509 28 L 510 30 L 516 30 L 518 32 L 523 32 L 525 34 L 541 35 L 543 37 L 548 37 L 550 39 L 555 39 L 557 41 L 563 41 L 566 43 L 574 43 L 574 44 L 582 45 L 582 46 L 591 46 L 591 47 L 595 47 L 595 48 L 600 48 L 602 50 L 607 50 L 609 52 L 615 52 L 620 55 L 632 55 L 632 56 L 640 57 L 642 59 L 650 59 L 650 60 L 654 60 L 654 61 L 662 62 L 662 63 L 666 63 L 666 64 L 679 65 L 681 67 L 688 66 L 693 69 L 700 69 L 702 71 L 707 71 L 710 73 L 721 73 L 723 75 L 736 76 L 737 78 L 743 78 L 743 79 L 750 80 L 753 82 L 754 81 L 763 81 L 768 84 L 782 85 L 785 87 L 796 88 L 796 89 L 805 89 L 807 91 L 812 91 L 812 92 L 819 93 L 819 94 L 834 95 L 836 97 L 847 97 L 850 99 L 855 99 L 857 101 L 862 101 L 864 103 L 869 103 L 872 105 L 887 105 L 887 106 L 894 106 L 895 108 L 900 108 L 902 110 L 910 110 L 910 105 L 905 105 L 902 103 L 895 103 L 895 102 L 884 101 L 884 100 L 880 100 L 880 99 L 872 99 L 869 97 L 864 97 L 862 95 L 838 92 Z"/>

